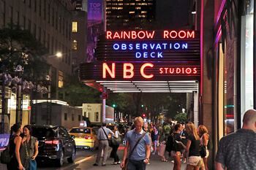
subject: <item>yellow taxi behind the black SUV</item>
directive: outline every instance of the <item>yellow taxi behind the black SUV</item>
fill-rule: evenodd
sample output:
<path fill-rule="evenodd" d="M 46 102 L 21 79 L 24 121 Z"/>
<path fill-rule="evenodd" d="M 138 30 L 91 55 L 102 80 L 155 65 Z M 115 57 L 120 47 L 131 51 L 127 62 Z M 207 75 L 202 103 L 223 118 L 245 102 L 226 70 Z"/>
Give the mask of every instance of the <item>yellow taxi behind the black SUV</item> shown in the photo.
<path fill-rule="evenodd" d="M 74 127 L 69 131 L 69 135 L 75 136 L 75 146 L 78 148 L 94 150 L 99 146 L 94 128 Z"/>

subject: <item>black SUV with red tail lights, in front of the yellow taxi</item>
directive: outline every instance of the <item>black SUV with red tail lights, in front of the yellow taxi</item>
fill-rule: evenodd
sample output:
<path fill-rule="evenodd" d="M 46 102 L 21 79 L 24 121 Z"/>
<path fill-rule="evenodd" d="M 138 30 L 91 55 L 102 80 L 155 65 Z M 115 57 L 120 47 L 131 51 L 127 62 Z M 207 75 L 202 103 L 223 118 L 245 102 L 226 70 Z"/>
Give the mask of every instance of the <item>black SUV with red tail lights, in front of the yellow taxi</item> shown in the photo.
<path fill-rule="evenodd" d="M 66 128 L 53 125 L 32 125 L 32 136 L 38 140 L 37 160 L 51 159 L 62 166 L 64 158 L 69 163 L 75 161 L 75 140 Z"/>

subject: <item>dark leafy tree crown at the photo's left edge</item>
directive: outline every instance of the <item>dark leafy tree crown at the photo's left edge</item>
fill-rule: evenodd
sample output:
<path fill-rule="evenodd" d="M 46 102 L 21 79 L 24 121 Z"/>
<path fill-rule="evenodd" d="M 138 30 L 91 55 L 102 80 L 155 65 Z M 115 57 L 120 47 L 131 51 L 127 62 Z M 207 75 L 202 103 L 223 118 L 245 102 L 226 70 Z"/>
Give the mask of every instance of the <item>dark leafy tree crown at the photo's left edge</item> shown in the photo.
<path fill-rule="evenodd" d="M 23 66 L 27 80 L 48 74 L 49 65 L 43 58 L 48 50 L 28 30 L 23 30 L 13 23 L 9 28 L 0 29 L 1 64 L 14 74 L 18 65 Z"/>

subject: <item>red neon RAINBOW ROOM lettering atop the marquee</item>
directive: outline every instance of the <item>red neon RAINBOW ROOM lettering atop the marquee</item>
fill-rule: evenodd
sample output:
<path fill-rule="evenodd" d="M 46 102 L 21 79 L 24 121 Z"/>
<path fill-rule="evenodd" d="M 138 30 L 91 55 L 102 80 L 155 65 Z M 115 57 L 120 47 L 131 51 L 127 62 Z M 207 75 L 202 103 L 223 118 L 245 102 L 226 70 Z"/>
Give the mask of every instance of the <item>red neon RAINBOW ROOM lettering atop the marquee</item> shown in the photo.
<path fill-rule="evenodd" d="M 106 39 L 197 39 L 195 31 L 107 31 Z"/>

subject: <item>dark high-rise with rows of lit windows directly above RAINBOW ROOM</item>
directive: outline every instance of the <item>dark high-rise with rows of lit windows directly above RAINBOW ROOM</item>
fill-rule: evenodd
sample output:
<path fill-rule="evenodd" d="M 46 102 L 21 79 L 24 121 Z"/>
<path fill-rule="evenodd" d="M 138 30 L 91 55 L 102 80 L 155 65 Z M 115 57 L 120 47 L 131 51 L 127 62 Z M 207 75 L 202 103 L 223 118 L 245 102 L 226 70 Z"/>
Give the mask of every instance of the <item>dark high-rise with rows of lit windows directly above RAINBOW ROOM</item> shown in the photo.
<path fill-rule="evenodd" d="M 156 0 L 106 0 L 108 30 L 139 29 L 155 18 Z"/>

